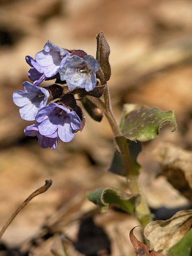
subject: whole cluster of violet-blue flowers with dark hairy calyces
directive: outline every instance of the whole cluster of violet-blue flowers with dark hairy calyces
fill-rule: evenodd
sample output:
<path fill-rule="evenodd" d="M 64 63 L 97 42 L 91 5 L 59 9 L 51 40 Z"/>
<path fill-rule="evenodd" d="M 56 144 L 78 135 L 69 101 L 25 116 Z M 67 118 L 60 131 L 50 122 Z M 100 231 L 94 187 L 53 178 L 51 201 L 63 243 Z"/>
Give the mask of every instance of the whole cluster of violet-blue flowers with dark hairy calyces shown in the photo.
<path fill-rule="evenodd" d="M 55 149 L 58 137 L 69 142 L 82 130 L 85 119 L 74 94 L 77 88 L 85 94 L 94 90 L 99 63 L 83 50 L 63 49 L 49 40 L 35 58 L 26 56 L 26 62 L 33 84 L 24 82 L 13 101 L 24 120 L 37 121 L 25 128 L 25 135 L 37 136 L 41 147 Z M 53 79 L 52 85 L 41 84 Z"/>

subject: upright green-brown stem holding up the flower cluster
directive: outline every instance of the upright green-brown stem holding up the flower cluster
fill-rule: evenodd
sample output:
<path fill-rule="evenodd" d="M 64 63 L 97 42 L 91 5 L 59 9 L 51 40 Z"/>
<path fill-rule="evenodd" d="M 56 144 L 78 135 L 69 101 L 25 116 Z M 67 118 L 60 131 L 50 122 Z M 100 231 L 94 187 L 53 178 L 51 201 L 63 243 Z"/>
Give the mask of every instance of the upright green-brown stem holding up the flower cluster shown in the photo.
<path fill-rule="evenodd" d="M 132 163 L 132 159 L 131 159 L 131 155 L 130 155 L 130 151 L 127 143 L 127 138 L 122 136 L 119 125 L 117 124 L 116 118 L 114 117 L 111 103 L 110 103 L 108 86 L 106 91 L 103 94 L 103 97 L 105 100 L 105 116 L 106 118 L 108 118 L 114 137 L 121 137 L 120 139 L 116 140 L 116 143 L 118 146 L 118 150 L 120 150 L 121 152 L 121 156 L 122 156 L 125 168 L 127 168 L 127 173 L 128 173 L 127 181 L 128 181 L 129 189 L 131 190 L 131 193 L 140 194 L 141 196 L 141 201 L 139 206 L 136 207 L 135 215 L 144 229 L 144 227 L 152 221 L 151 212 L 149 210 L 142 188 L 140 186 L 140 182 L 138 180 L 138 174 L 136 173 L 136 170 L 134 169 L 134 166 Z"/>

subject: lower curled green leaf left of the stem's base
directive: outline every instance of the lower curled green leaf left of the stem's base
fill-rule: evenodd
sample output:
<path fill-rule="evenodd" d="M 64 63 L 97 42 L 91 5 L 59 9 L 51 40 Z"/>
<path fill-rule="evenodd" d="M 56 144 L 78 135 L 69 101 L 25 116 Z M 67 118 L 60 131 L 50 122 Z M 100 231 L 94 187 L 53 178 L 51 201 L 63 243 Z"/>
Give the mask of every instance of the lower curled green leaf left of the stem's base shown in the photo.
<path fill-rule="evenodd" d="M 87 192 L 88 199 L 100 207 L 101 212 L 108 210 L 110 206 L 116 206 L 128 214 L 132 214 L 140 203 L 140 195 L 132 195 L 118 188 L 105 187 Z"/>

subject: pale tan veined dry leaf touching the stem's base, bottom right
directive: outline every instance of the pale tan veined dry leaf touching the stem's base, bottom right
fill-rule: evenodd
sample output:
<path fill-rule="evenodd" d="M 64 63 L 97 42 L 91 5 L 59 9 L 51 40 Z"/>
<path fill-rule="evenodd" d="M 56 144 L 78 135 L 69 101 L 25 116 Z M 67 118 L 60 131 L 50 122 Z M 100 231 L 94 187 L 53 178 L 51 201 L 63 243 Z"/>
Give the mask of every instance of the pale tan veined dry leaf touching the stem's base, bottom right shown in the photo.
<path fill-rule="evenodd" d="M 163 254 L 176 244 L 192 225 L 192 210 L 179 211 L 166 221 L 154 221 L 144 229 L 144 236 L 149 240 L 151 249 L 161 250 Z"/>

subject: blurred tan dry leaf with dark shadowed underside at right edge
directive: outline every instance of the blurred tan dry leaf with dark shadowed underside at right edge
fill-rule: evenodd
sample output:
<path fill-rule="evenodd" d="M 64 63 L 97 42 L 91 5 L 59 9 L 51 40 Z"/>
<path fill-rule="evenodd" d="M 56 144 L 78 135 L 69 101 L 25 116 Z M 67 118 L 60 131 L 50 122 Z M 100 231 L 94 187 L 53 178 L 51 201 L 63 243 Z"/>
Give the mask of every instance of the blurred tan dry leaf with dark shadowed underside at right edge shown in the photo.
<path fill-rule="evenodd" d="M 171 143 L 162 143 L 152 155 L 163 166 L 160 174 L 192 203 L 192 153 Z"/>

